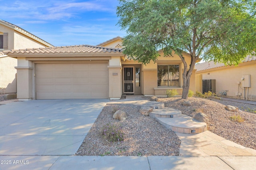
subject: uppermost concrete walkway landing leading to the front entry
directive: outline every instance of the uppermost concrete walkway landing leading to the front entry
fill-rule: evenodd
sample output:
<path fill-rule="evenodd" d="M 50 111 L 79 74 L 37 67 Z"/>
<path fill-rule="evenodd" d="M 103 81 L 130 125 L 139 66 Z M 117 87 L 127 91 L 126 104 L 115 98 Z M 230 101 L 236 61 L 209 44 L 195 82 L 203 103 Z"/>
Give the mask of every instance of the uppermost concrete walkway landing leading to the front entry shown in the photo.
<path fill-rule="evenodd" d="M 137 109 L 140 109 L 141 107 L 148 106 L 153 109 L 162 109 L 164 108 L 164 103 L 160 102 L 152 102 L 148 100 L 137 100 L 137 101 L 115 101 L 115 102 L 108 102 L 106 105 L 121 105 L 121 106 L 130 106 Z"/>

